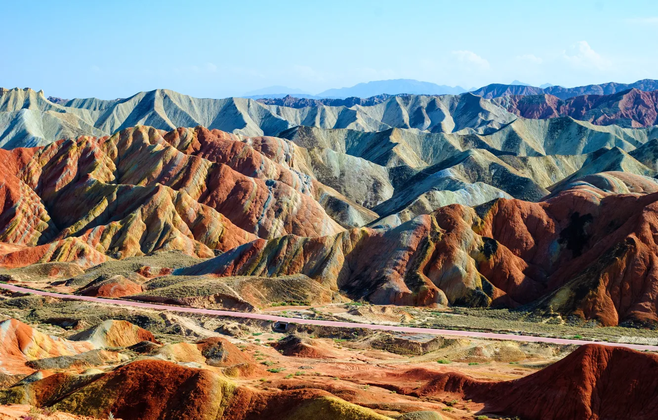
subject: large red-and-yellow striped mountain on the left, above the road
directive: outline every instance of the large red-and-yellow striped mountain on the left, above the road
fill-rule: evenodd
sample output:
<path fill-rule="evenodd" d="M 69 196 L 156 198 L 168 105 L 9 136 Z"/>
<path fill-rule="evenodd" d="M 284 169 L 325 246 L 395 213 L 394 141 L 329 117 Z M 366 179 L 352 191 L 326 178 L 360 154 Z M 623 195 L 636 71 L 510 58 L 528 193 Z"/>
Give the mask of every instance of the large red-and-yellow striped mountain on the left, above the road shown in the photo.
<path fill-rule="evenodd" d="M 147 127 L 0 151 L 7 163 L 0 238 L 14 247 L 0 263 L 94 265 L 106 255 L 172 249 L 211 257 L 213 250 L 257 236 L 342 231 L 325 208 L 347 226 L 376 219 L 285 159 L 273 161 L 235 136 L 197 128 L 166 138 L 190 154 Z M 253 143 L 275 159 L 278 147 L 294 147 L 281 139 Z"/>

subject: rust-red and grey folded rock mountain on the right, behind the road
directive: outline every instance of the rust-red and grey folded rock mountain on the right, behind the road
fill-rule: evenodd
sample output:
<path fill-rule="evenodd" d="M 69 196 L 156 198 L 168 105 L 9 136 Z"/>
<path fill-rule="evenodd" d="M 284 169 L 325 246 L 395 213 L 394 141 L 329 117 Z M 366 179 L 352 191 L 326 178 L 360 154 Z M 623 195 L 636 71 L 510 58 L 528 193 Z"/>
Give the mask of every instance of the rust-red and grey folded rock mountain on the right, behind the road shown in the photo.
<path fill-rule="evenodd" d="M 522 304 L 603 325 L 658 323 L 656 185 L 620 172 L 591 178 L 635 193 L 581 182 L 540 203 L 448 205 L 388 230 L 259 239 L 174 275 L 301 273 L 374 303 Z"/>

